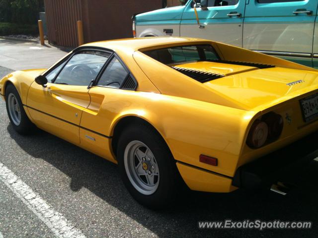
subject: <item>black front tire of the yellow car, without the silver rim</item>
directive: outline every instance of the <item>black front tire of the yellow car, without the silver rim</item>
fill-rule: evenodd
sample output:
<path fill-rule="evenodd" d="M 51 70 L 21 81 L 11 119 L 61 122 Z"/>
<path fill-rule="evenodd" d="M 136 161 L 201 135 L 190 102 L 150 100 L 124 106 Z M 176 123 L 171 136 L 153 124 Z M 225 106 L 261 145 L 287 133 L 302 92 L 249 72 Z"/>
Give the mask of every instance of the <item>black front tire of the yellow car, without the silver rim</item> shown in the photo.
<path fill-rule="evenodd" d="M 15 96 L 17 103 L 18 103 L 18 106 L 20 108 L 21 120 L 20 120 L 19 124 L 14 123 L 13 119 L 11 118 L 10 112 L 9 112 L 8 98 L 9 98 L 10 94 L 13 94 Z M 12 84 L 9 84 L 6 87 L 5 105 L 6 105 L 6 112 L 8 114 L 8 117 L 10 119 L 11 125 L 14 128 L 14 130 L 22 135 L 30 134 L 31 131 L 34 129 L 34 124 L 30 121 L 30 119 L 26 115 L 24 108 L 23 108 L 23 104 L 22 104 L 20 95 L 19 95 L 18 91 L 16 90 L 16 88 Z"/>

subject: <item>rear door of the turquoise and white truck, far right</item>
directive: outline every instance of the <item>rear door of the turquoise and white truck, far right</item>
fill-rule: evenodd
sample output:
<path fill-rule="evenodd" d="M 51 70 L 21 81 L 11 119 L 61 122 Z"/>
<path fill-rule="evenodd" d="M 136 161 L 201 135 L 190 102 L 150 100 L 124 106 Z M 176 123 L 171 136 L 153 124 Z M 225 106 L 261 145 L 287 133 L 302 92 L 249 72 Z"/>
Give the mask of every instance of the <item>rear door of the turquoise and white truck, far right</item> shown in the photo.
<path fill-rule="evenodd" d="M 249 0 L 243 47 L 312 65 L 317 0 Z"/>

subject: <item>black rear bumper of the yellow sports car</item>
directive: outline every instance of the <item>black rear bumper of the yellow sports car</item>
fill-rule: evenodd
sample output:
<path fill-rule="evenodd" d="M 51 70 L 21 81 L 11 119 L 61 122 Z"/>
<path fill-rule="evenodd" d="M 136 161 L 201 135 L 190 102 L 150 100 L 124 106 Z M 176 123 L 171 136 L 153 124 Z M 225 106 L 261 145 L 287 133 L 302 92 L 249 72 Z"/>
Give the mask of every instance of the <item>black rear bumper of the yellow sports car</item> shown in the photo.
<path fill-rule="evenodd" d="M 232 185 L 246 189 L 270 186 L 282 173 L 292 173 L 317 157 L 318 131 L 239 167 Z"/>

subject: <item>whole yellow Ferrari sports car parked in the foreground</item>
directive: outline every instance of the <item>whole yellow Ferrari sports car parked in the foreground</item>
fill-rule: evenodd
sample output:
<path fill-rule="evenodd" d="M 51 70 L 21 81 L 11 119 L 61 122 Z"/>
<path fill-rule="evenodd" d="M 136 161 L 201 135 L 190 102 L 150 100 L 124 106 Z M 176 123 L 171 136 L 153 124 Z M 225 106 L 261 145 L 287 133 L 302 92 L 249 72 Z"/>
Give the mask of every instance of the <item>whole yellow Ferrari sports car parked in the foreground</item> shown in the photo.
<path fill-rule="evenodd" d="M 0 81 L 14 129 L 34 125 L 119 165 L 140 203 L 179 189 L 271 185 L 318 157 L 318 71 L 238 47 L 159 37 L 80 46 Z"/>

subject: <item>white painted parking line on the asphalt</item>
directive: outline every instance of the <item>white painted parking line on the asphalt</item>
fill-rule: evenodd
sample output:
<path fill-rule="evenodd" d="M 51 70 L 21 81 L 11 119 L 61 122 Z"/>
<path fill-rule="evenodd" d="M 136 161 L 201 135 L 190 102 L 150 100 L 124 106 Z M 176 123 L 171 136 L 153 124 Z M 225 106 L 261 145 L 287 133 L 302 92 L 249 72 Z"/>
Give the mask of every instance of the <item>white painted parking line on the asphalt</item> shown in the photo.
<path fill-rule="evenodd" d="M 85 238 L 63 215 L 55 211 L 39 194 L 0 163 L 0 180 L 59 238 Z"/>

